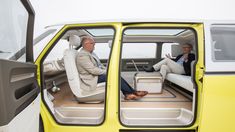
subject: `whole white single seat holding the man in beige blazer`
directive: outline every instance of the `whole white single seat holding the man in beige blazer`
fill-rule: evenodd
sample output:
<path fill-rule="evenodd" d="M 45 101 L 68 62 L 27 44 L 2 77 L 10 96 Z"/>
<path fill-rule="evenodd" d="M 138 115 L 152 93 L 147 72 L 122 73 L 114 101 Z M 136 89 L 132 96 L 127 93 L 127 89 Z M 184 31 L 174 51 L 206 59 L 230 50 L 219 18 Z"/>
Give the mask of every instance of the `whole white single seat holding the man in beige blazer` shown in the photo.
<path fill-rule="evenodd" d="M 105 83 L 97 85 L 97 90 L 91 91 L 88 94 L 83 94 L 83 90 L 80 87 L 80 76 L 76 65 L 77 50 L 74 47 L 80 45 L 80 38 L 76 35 L 69 37 L 69 49 L 64 51 L 64 66 L 68 78 L 68 83 L 71 91 L 76 97 L 78 102 L 100 102 L 105 98 Z"/>

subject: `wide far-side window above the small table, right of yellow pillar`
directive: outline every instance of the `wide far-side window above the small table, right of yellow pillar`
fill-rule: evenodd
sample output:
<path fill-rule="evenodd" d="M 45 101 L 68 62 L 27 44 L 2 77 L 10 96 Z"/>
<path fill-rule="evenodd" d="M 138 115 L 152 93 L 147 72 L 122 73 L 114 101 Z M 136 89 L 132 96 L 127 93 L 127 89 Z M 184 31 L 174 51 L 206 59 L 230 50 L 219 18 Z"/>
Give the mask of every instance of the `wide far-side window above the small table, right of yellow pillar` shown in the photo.
<path fill-rule="evenodd" d="M 156 43 L 123 43 L 122 58 L 155 58 Z"/>

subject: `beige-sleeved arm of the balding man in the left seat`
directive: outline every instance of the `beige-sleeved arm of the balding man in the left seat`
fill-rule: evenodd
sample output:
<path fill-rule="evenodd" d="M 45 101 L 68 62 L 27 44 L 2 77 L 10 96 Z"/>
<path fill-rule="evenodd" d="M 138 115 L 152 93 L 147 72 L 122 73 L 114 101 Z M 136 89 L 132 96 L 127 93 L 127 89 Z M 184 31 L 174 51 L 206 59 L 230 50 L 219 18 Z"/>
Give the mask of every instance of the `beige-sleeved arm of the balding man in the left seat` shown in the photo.
<path fill-rule="evenodd" d="M 105 69 L 101 69 L 91 62 L 89 55 L 78 55 L 76 60 L 82 68 L 92 75 L 101 75 L 106 73 Z"/>

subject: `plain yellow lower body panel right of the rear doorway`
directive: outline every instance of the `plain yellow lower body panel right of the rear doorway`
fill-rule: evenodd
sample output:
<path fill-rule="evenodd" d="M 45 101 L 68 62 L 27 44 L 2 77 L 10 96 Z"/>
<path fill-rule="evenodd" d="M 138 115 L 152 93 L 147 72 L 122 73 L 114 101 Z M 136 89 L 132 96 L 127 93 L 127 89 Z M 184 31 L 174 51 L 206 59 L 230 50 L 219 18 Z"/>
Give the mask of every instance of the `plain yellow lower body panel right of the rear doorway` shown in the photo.
<path fill-rule="evenodd" d="M 205 75 L 199 132 L 235 132 L 235 75 Z"/>

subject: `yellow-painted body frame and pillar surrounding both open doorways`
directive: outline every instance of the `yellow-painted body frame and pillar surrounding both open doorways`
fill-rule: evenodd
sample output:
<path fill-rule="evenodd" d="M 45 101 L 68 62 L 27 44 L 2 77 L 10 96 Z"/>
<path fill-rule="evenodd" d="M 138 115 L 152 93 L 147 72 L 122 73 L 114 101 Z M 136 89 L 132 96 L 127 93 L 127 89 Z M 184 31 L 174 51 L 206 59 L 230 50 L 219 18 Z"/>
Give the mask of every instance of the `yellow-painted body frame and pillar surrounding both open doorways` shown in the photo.
<path fill-rule="evenodd" d="M 100 26 L 113 26 L 116 30 L 114 45 L 112 47 L 112 54 L 110 58 L 110 64 L 108 69 L 108 79 L 107 79 L 107 95 L 106 95 L 106 108 L 105 108 L 105 119 L 102 125 L 100 126 L 66 126 L 57 124 L 52 115 L 49 113 L 45 104 L 41 101 L 41 116 L 43 119 L 44 130 L 45 132 L 88 132 L 88 131 L 96 131 L 96 132 L 119 132 L 119 129 L 197 129 L 198 124 L 200 122 L 201 113 L 201 89 L 202 83 L 198 81 L 200 77 L 203 76 L 203 57 L 204 57 L 204 46 L 203 46 L 203 25 L 202 24 L 161 24 L 161 23 L 145 23 L 145 24 L 128 24 L 128 26 L 123 26 L 122 23 L 97 23 L 97 24 L 73 24 L 64 26 L 58 34 L 50 41 L 45 49 L 42 51 L 40 56 L 38 57 L 36 64 L 38 66 L 38 82 L 40 84 L 40 63 L 41 59 L 47 52 L 47 50 L 53 45 L 54 41 L 68 28 L 75 27 L 100 27 Z M 198 63 L 196 65 L 196 82 L 198 83 L 198 107 L 197 107 L 197 117 L 196 121 L 192 126 L 189 127 L 181 127 L 181 128 L 134 128 L 134 127 L 124 127 L 119 122 L 119 90 L 118 90 L 118 78 L 119 78 L 119 62 L 120 62 L 120 48 L 121 48 L 121 39 L 122 39 L 122 31 L 127 27 L 183 27 L 183 28 L 193 28 L 197 32 L 197 41 L 198 41 Z M 206 132 L 206 131 L 204 131 Z"/>

